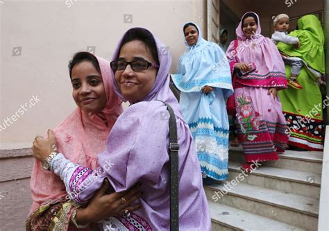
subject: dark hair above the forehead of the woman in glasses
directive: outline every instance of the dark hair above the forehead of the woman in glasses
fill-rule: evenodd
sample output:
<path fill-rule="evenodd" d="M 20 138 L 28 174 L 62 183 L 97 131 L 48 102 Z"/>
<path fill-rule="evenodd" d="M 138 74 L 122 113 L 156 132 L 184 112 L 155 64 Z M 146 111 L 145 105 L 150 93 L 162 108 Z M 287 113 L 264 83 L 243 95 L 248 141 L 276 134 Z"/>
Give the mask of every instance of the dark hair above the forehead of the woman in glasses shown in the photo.
<path fill-rule="evenodd" d="M 148 49 L 151 52 L 153 60 L 155 60 L 157 64 L 159 63 L 158 50 L 155 44 L 154 37 L 151 34 L 151 32 L 147 31 L 144 28 L 131 28 L 125 33 L 124 37 L 122 38 L 120 50 L 122 46 L 124 46 L 124 44 L 134 40 L 142 41 L 146 49 Z"/>

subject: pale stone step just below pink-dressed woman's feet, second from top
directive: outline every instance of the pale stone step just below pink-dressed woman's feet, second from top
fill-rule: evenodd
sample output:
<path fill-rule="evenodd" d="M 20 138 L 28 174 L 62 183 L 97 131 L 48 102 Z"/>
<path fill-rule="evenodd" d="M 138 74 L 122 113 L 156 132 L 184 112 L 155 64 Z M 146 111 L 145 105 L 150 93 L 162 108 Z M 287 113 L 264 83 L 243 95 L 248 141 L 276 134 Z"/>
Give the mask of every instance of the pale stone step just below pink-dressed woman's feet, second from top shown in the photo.
<path fill-rule="evenodd" d="M 297 194 L 317 200 L 320 198 L 321 175 L 319 174 L 260 166 L 253 173 L 243 175 L 240 166 L 241 164 L 237 162 L 228 163 L 229 180 L 239 180 L 239 175 L 240 178 L 247 175 L 243 182 L 249 185 L 276 189 L 286 194 Z"/>

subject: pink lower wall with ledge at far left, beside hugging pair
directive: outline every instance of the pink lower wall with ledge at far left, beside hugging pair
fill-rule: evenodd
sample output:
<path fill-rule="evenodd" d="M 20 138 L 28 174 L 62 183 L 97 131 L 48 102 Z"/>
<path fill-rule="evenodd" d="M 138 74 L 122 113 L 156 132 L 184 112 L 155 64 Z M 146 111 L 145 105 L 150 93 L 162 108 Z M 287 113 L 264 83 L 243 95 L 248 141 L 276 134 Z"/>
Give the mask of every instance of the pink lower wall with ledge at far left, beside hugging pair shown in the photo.
<path fill-rule="evenodd" d="M 0 150 L 0 230 L 25 230 L 32 204 L 31 148 Z"/>

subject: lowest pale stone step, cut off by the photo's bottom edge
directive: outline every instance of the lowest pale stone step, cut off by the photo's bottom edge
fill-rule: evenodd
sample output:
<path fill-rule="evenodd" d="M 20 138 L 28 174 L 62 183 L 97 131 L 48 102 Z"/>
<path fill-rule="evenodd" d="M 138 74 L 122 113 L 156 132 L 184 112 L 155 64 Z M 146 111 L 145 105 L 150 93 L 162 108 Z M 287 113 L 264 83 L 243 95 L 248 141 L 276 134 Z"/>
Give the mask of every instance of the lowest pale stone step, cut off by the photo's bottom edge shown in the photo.
<path fill-rule="evenodd" d="M 244 212 L 227 205 L 208 201 L 212 219 L 212 231 L 219 230 L 267 230 L 267 231 L 301 231 L 292 225 L 287 225 L 263 216 Z"/>

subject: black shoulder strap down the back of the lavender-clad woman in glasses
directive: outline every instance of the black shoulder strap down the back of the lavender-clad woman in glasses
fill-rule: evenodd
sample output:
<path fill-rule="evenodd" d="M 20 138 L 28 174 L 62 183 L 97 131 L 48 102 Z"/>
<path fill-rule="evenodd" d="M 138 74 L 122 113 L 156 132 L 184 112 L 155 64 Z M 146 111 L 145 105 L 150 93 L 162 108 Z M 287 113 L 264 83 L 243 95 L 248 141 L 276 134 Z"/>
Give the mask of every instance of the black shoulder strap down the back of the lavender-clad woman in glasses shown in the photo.
<path fill-rule="evenodd" d="M 162 103 L 165 103 L 161 101 Z M 169 161 L 170 161 L 170 230 L 178 231 L 178 150 L 177 125 L 174 110 L 165 103 L 169 112 Z"/>

